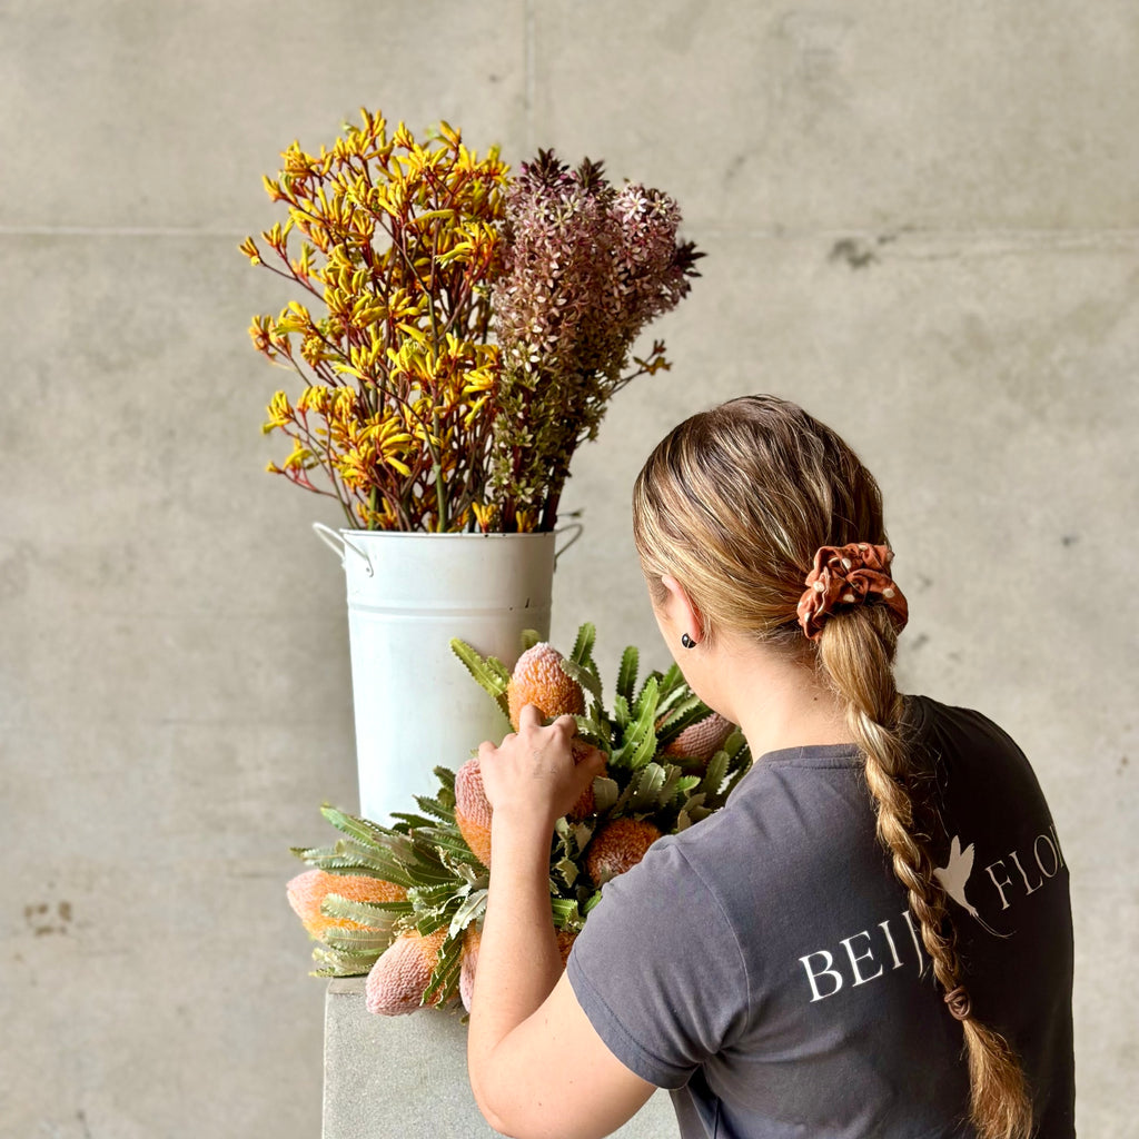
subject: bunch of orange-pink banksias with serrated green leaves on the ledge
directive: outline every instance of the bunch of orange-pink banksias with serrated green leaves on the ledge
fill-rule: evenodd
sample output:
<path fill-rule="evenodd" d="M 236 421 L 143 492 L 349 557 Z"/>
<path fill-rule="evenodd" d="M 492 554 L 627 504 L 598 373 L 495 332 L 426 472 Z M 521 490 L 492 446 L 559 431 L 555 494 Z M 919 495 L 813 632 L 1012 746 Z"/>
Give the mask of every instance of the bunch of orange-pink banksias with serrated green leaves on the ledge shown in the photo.
<path fill-rule="evenodd" d="M 656 838 L 722 806 L 751 762 L 741 734 L 695 696 L 675 665 L 638 686 L 633 647 L 607 710 L 595 637 L 582 625 L 564 657 L 527 634 L 513 672 L 452 642 L 515 726 L 526 704 L 549 718 L 572 714 L 579 737 L 606 755 L 605 773 L 558 820 L 550 843 L 550 912 L 564 956 L 604 883 L 636 866 Z M 448 1005 L 457 994 L 469 1007 L 493 854 L 491 808 L 477 757 L 435 775 L 435 794 L 418 796 L 418 811 L 395 816 L 392 826 L 326 805 L 343 837 L 293 851 L 313 868 L 289 883 L 288 896 L 319 942 L 314 974 L 368 974 L 374 1013 Z"/>

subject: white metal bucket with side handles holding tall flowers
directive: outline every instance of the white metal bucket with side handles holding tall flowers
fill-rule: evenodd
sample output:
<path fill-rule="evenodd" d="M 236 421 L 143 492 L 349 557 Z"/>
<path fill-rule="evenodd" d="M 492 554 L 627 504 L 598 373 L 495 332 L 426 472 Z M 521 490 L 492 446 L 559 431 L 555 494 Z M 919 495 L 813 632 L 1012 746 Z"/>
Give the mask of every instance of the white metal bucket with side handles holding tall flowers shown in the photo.
<path fill-rule="evenodd" d="M 556 535 L 313 530 L 347 582 L 360 813 L 386 823 L 509 731 L 450 641 L 510 667 L 524 629 L 548 637 Z"/>

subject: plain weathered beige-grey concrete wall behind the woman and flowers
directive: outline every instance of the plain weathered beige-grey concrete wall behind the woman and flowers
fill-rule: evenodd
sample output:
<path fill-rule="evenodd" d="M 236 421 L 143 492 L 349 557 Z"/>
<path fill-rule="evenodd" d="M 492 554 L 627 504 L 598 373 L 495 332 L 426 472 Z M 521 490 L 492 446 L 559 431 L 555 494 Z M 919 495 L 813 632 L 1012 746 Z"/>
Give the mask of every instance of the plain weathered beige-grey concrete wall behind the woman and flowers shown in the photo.
<path fill-rule="evenodd" d="M 353 805 L 343 580 L 335 513 L 261 473 L 245 328 L 281 297 L 236 245 L 277 151 L 360 105 L 678 196 L 705 274 L 575 464 L 555 634 L 663 663 L 626 499 L 680 417 L 770 390 L 845 433 L 904 685 L 1002 722 L 1050 796 L 1081 1130 L 1133 1134 L 1131 0 L 6 0 L 0 1136 L 318 1133 L 282 886 Z"/>

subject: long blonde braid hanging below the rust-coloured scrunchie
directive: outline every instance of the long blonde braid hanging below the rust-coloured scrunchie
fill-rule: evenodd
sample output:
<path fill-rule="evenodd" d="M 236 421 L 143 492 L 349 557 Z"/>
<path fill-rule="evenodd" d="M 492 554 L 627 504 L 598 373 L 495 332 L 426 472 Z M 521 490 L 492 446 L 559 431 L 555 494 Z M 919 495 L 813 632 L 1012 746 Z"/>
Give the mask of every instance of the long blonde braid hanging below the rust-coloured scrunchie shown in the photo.
<path fill-rule="evenodd" d="M 945 892 L 913 826 L 913 772 L 900 732 L 901 697 L 894 686 L 896 638 L 893 621 L 880 607 L 841 611 L 830 616 L 818 638 L 819 667 L 846 705 L 847 729 L 866 756 L 878 839 L 909 895 L 934 977 L 965 1031 L 973 1125 L 981 1139 L 1027 1139 L 1032 1101 L 1024 1073 L 1005 1038 L 972 1014 Z"/>

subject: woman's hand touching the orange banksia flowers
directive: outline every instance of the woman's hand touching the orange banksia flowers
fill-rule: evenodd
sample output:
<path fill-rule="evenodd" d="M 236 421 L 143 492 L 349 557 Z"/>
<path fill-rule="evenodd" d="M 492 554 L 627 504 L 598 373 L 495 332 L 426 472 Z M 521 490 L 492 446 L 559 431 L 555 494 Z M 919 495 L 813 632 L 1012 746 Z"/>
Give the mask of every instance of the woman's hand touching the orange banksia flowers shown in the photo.
<path fill-rule="evenodd" d="M 572 715 L 542 726 L 542 713 L 527 704 L 518 730 L 495 747 L 478 748 L 483 788 L 495 818 L 518 818 L 554 829 L 605 768 L 596 747 L 572 745 L 577 726 Z"/>

